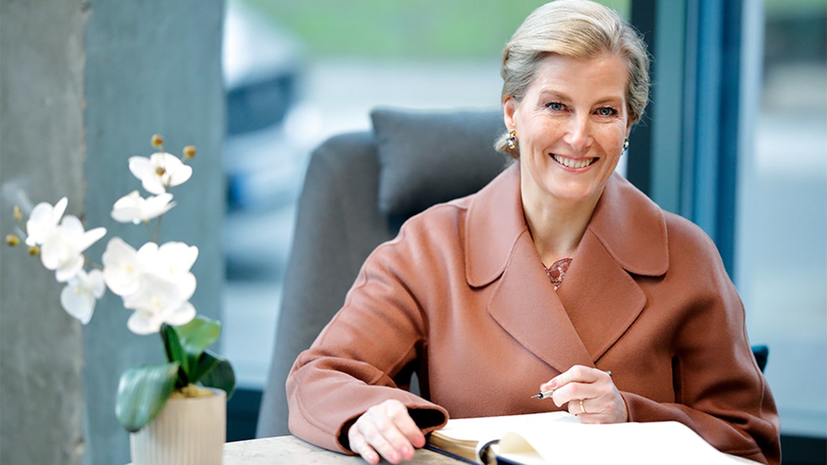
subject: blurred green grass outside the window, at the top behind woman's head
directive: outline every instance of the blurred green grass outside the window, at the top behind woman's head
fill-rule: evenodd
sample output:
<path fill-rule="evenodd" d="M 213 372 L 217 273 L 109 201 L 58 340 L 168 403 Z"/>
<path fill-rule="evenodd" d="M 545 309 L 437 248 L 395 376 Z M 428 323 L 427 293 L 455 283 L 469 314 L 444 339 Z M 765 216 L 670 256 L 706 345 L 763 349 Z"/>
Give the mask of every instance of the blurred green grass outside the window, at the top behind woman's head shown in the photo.
<path fill-rule="evenodd" d="M 238 1 L 238 0 L 236 0 Z M 543 0 L 243 0 L 314 57 L 490 59 Z M 621 14 L 629 0 L 605 0 Z"/>

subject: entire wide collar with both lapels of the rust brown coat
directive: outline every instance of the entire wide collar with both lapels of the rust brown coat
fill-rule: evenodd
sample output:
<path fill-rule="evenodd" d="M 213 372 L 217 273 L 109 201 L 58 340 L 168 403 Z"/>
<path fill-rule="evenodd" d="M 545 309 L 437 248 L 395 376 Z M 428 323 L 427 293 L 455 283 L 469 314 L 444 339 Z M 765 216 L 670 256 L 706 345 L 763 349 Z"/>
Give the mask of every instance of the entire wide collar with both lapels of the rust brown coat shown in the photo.
<path fill-rule="evenodd" d="M 646 304 L 630 273 L 661 276 L 669 259 L 661 210 L 613 175 L 555 292 L 523 218 L 517 164 L 474 196 L 466 241 L 469 285 L 499 280 L 492 318 L 560 372 L 598 361 Z"/>

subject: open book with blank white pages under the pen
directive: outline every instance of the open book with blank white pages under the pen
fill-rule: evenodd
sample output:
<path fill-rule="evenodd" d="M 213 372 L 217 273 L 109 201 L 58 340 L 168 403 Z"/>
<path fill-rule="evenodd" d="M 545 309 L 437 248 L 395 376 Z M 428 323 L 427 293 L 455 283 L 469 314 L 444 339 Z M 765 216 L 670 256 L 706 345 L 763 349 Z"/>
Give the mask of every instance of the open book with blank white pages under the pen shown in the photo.
<path fill-rule="evenodd" d="M 719 452 L 675 421 L 581 424 L 568 412 L 449 419 L 426 447 L 484 464 L 754 464 Z"/>

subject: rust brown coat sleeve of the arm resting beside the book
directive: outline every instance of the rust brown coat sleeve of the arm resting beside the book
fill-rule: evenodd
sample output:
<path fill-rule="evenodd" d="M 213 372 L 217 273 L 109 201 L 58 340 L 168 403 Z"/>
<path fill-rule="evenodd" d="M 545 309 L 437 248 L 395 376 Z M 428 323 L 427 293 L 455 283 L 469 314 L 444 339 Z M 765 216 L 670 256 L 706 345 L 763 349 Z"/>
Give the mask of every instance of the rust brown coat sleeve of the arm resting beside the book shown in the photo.
<path fill-rule="evenodd" d="M 299 438 L 351 453 L 349 425 L 389 399 L 406 405 L 425 433 L 447 422 L 445 409 L 406 389 L 427 352 L 427 321 L 411 291 L 418 265 L 427 265 L 404 234 L 368 257 L 342 309 L 294 363 L 286 391 Z"/>

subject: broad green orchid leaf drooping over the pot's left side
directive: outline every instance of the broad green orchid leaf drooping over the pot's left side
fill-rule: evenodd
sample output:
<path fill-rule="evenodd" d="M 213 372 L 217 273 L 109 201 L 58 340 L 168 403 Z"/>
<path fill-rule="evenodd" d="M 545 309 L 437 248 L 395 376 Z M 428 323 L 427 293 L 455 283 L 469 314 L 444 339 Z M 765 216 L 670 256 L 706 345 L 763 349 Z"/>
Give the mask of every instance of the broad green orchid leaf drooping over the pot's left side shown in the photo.
<path fill-rule="evenodd" d="M 178 362 L 134 367 L 123 372 L 115 397 L 115 416 L 135 433 L 155 419 L 175 388 Z"/>

